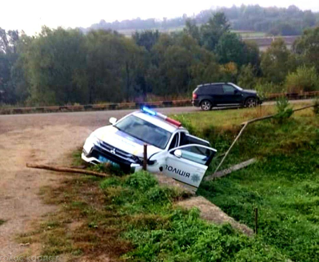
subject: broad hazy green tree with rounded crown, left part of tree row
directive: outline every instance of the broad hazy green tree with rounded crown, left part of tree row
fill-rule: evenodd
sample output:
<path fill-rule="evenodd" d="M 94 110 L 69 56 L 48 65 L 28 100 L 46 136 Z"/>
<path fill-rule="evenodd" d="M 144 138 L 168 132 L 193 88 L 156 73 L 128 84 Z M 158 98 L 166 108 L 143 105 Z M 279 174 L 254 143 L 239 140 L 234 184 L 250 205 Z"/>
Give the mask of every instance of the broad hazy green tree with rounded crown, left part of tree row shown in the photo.
<path fill-rule="evenodd" d="M 30 103 L 67 104 L 80 93 L 73 81 L 76 70 L 85 64 L 83 34 L 78 30 L 51 30 L 43 27 L 23 51 L 24 68 L 30 84 Z"/>

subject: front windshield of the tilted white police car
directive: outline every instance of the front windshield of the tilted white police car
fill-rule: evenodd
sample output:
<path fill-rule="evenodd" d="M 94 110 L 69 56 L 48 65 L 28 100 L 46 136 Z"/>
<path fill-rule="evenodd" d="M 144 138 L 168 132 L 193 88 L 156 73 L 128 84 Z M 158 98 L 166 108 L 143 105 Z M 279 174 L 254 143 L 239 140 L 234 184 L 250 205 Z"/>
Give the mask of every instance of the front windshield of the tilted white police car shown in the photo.
<path fill-rule="evenodd" d="M 130 115 L 117 122 L 115 127 L 148 144 L 164 149 L 172 133 L 139 117 Z"/>

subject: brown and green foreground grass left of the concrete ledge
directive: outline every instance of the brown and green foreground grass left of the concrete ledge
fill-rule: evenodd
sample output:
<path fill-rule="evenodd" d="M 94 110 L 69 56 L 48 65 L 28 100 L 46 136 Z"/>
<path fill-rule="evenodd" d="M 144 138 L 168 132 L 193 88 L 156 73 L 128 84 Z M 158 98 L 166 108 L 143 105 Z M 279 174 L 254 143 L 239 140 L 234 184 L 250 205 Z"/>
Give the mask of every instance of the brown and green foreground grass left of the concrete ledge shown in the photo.
<path fill-rule="evenodd" d="M 18 241 L 41 243 L 44 256 L 67 261 L 103 255 L 111 261 L 286 261 L 258 237 L 229 224 L 205 222 L 196 208 L 175 207 L 189 194 L 159 186 L 147 172 L 106 179 L 77 176 L 42 193 L 59 211 Z"/>

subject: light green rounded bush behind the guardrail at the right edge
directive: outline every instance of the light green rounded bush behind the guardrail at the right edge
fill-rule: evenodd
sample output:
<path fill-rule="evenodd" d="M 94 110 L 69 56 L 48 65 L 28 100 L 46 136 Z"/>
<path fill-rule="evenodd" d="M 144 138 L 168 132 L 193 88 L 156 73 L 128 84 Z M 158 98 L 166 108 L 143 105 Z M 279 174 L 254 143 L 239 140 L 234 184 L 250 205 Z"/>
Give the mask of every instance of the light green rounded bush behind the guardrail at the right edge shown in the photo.
<path fill-rule="evenodd" d="M 301 93 L 303 91 L 319 90 L 319 78 L 315 67 L 306 67 L 302 65 L 296 72 L 289 73 L 286 76 L 286 87 L 289 93 Z"/>

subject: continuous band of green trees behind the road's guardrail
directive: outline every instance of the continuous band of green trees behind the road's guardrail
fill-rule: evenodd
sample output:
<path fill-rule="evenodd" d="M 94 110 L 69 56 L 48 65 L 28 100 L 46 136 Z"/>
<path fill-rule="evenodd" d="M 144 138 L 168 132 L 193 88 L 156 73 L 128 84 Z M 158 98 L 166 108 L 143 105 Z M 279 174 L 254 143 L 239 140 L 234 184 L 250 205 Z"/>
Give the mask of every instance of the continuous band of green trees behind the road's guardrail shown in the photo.
<path fill-rule="evenodd" d="M 264 53 L 230 31 L 224 13 L 183 31 L 86 34 L 43 27 L 35 36 L 0 29 L 3 104 L 65 105 L 187 97 L 197 84 L 231 81 L 261 92 L 318 89 L 319 27 L 293 50 L 282 40 Z"/>

